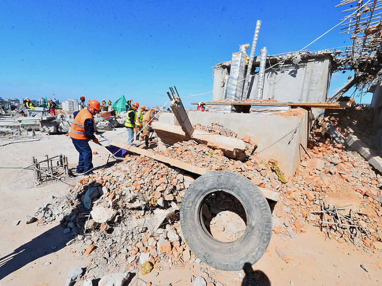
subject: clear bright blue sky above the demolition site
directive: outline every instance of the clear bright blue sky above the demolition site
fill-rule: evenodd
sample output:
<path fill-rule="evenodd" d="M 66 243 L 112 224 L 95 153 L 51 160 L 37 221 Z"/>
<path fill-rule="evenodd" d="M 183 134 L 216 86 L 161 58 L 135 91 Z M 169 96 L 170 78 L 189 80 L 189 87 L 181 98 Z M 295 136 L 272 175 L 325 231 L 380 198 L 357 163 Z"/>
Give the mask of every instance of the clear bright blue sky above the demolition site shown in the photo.
<path fill-rule="evenodd" d="M 212 90 L 212 66 L 252 43 L 256 54 L 296 51 L 345 16 L 339 1 L 50 1 L 0 3 L 0 96 L 164 104 Z M 336 28 L 311 50 L 349 44 Z M 330 93 L 345 76 L 333 77 Z M 208 101 L 211 93 L 185 100 Z"/>

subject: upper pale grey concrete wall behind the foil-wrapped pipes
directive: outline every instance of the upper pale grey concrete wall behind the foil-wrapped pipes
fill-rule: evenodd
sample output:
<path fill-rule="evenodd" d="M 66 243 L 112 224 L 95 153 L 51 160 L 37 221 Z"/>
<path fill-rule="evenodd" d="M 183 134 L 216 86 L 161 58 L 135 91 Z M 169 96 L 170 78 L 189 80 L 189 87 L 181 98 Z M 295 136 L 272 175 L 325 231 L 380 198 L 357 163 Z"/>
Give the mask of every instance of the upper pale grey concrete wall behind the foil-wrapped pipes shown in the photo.
<path fill-rule="evenodd" d="M 245 51 L 238 52 L 245 59 Z M 237 53 L 234 53 L 237 54 Z M 280 102 L 322 102 L 326 101 L 329 90 L 331 74 L 333 71 L 333 52 L 330 50 L 311 53 L 308 51 L 299 53 L 285 53 L 268 56 L 265 65 L 264 84 L 262 96 L 257 95 L 258 67 L 260 56 L 257 56 L 250 72 L 249 90 L 246 98 L 243 98 L 244 75 L 246 74 L 245 61 L 240 61 L 242 66 L 241 76 L 235 77 L 235 96 L 227 96 L 231 78 L 231 65 L 235 61 L 219 63 L 214 67 L 214 92 L 212 101 L 222 99 L 241 101 L 247 99 L 275 100 Z M 315 115 L 322 115 L 323 111 L 314 111 Z"/>

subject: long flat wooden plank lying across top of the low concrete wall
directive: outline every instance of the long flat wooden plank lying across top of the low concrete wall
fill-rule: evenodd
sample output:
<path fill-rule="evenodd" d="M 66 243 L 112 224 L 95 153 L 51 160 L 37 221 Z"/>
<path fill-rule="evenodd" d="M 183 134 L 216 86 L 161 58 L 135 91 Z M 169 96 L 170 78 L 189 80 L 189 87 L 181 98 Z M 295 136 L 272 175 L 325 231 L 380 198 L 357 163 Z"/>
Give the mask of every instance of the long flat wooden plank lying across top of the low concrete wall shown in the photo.
<path fill-rule="evenodd" d="M 198 104 L 193 102 L 191 104 Z M 239 101 L 226 101 L 226 102 L 205 102 L 204 105 L 239 105 L 239 106 L 251 106 L 251 105 L 269 105 L 269 106 L 298 106 L 308 108 L 327 108 L 327 109 L 345 109 L 346 103 L 340 102 L 239 102 Z"/>

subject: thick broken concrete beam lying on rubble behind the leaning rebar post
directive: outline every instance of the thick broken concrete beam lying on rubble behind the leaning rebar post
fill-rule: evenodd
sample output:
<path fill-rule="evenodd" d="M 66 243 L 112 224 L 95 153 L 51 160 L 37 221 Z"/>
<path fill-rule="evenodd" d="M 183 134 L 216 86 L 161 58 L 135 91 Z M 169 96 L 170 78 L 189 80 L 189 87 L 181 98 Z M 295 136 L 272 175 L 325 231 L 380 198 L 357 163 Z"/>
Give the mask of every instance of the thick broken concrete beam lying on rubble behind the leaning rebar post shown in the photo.
<path fill-rule="evenodd" d="M 162 122 L 153 122 L 152 127 L 160 140 L 166 144 L 173 145 L 176 142 L 187 141 L 188 138 L 181 127 Z M 212 134 L 202 130 L 194 130 L 191 139 L 200 144 L 209 146 L 212 149 L 222 150 L 227 157 L 244 160 L 246 155 L 254 151 L 254 146 L 246 144 L 238 138 L 226 137 Z"/>

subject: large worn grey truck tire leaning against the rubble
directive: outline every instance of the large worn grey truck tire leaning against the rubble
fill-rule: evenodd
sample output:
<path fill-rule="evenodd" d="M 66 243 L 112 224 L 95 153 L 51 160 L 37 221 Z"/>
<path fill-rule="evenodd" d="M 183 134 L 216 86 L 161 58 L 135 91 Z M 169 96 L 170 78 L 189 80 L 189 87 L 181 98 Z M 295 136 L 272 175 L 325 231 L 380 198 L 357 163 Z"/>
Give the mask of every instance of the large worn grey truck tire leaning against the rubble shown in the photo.
<path fill-rule="evenodd" d="M 217 191 L 233 195 L 246 213 L 246 229 L 232 242 L 215 239 L 203 223 L 204 201 Z M 194 254 L 220 270 L 241 270 L 246 262 L 255 264 L 267 249 L 272 233 L 272 215 L 264 195 L 250 180 L 229 171 L 209 172 L 189 186 L 181 203 L 180 223 Z"/>

